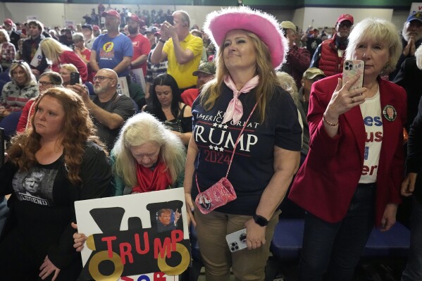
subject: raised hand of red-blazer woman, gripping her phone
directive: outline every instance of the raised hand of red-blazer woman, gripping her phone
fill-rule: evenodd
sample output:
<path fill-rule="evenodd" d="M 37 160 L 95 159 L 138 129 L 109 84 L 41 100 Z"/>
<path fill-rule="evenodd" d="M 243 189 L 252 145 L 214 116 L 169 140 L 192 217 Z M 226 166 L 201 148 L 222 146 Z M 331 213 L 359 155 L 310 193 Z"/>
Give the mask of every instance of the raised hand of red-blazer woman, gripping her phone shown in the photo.
<path fill-rule="evenodd" d="M 337 124 L 340 115 L 364 103 L 365 95 L 363 93 L 366 88 L 350 90 L 358 79 L 359 75 L 356 75 L 347 81 L 345 85 L 342 85 L 342 79 L 338 78 L 337 87 L 324 113 L 325 119 L 330 123 Z"/>

